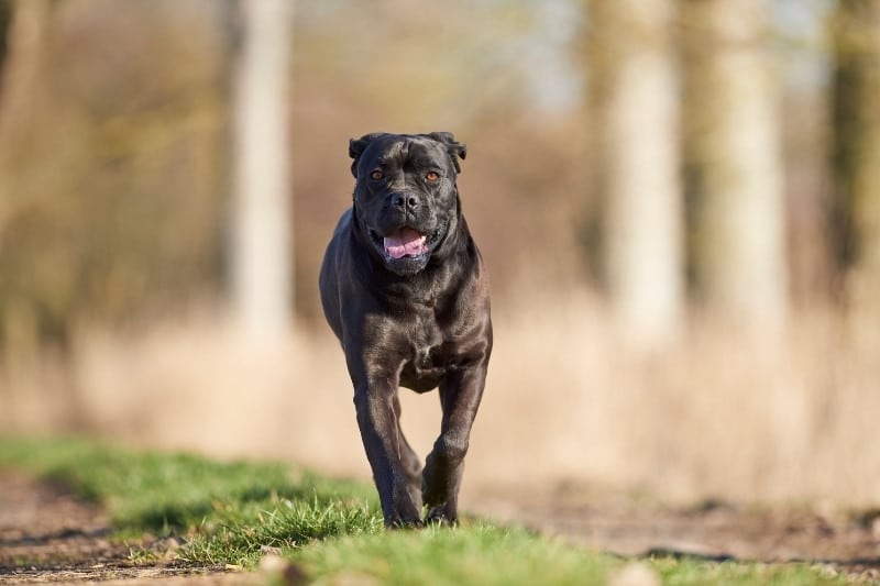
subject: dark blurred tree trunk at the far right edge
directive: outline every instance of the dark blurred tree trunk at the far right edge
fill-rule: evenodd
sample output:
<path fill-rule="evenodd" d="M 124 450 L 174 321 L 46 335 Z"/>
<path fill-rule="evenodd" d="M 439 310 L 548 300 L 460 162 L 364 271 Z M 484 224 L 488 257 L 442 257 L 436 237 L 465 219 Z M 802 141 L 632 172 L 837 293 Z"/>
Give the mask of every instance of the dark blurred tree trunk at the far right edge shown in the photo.
<path fill-rule="evenodd" d="M 861 295 L 880 295 L 880 0 L 839 0 L 833 18 L 835 253 Z M 856 292 L 856 291 L 853 291 Z"/>

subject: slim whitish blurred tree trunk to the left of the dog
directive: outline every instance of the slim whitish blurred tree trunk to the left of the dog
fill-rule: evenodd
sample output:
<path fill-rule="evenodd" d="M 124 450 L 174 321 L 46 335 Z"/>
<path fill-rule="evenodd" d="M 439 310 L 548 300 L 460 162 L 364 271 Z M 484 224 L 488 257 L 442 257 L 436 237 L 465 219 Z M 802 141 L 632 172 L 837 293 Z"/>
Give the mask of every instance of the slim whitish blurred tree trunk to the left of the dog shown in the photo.
<path fill-rule="evenodd" d="M 233 311 L 256 339 L 292 325 L 293 237 L 287 137 L 293 1 L 242 0 L 233 88 Z"/>

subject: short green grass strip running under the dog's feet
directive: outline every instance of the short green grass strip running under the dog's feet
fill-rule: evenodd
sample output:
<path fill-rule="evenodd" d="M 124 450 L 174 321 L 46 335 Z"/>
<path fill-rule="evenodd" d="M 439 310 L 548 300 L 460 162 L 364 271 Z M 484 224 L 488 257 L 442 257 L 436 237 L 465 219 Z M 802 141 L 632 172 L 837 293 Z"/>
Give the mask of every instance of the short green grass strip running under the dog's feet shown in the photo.
<path fill-rule="evenodd" d="M 605 584 L 632 563 L 483 520 L 385 531 L 371 486 L 276 463 L 220 463 L 85 440 L 0 439 L 0 467 L 62 482 L 105 504 L 120 535 L 182 537 L 185 563 L 253 568 L 268 548 L 317 583 L 457 586 Z M 802 564 L 641 563 L 671 585 L 845 583 Z"/>

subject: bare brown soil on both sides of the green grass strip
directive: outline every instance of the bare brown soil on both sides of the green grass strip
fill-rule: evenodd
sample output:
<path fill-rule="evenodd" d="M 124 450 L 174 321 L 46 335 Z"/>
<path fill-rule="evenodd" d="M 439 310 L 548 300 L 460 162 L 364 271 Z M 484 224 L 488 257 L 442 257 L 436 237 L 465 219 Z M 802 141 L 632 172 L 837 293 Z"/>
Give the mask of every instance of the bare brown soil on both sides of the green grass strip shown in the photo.
<path fill-rule="evenodd" d="M 740 508 L 723 502 L 671 508 L 561 487 L 472 499 L 472 510 L 622 556 L 809 562 L 856 582 L 880 583 L 880 511 L 820 513 Z M 193 567 L 175 560 L 177 544 L 148 535 L 110 538 L 102 510 L 63 487 L 0 473 L 0 584 L 215 585 L 260 582 L 234 567 Z M 132 561 L 133 548 L 158 559 Z"/>

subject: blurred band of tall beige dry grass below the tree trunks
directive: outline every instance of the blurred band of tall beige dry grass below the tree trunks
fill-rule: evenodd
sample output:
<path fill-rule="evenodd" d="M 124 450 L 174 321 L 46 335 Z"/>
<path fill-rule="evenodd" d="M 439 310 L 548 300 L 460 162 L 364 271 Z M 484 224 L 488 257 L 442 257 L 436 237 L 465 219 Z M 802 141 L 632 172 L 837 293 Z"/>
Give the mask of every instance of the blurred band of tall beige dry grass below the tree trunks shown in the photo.
<path fill-rule="evenodd" d="M 580 294 L 502 305 L 495 322 L 465 504 L 480 488 L 547 479 L 668 500 L 864 506 L 880 494 L 876 316 L 805 312 L 774 341 L 695 319 L 651 355 L 628 351 L 602 306 Z M 32 385 L 23 401 L 4 380 L 3 423 L 30 425 L 51 395 Z M 128 338 L 91 332 L 77 344 L 73 388 L 80 421 L 130 443 L 369 476 L 330 335 L 257 351 L 205 317 Z M 402 398 L 406 434 L 425 454 L 437 397 Z"/>

